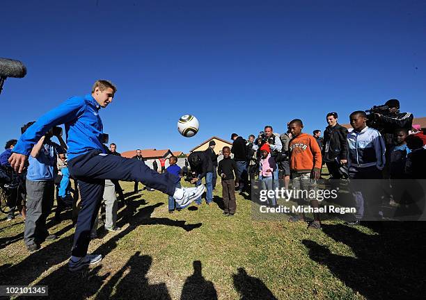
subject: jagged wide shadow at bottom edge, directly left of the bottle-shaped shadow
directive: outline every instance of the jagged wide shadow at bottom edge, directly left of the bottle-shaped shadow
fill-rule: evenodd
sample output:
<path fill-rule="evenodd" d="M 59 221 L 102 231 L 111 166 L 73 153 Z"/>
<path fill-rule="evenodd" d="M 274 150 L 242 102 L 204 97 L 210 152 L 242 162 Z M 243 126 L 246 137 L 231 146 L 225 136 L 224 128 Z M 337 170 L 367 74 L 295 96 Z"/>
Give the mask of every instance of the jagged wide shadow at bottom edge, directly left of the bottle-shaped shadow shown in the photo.
<path fill-rule="evenodd" d="M 165 283 L 149 284 L 151 256 L 137 251 L 104 285 L 95 299 L 171 299 Z"/>

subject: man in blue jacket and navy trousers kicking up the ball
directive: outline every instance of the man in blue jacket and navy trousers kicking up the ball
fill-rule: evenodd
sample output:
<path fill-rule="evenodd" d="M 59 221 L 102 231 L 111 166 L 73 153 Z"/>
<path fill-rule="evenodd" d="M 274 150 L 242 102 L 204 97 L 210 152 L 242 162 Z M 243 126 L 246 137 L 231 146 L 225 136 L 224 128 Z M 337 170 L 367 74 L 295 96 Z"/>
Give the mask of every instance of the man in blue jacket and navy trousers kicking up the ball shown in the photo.
<path fill-rule="evenodd" d="M 57 108 L 43 115 L 19 138 L 9 158 L 10 165 L 22 172 L 33 145 L 50 128 L 65 124 L 68 144 L 68 168 L 77 178 L 81 194 L 81 210 L 77 219 L 68 263 L 71 271 L 92 265 L 102 259 L 101 255 L 88 255 L 90 231 L 100 208 L 105 179 L 140 181 L 145 185 L 173 196 L 181 207 L 188 206 L 204 192 L 204 186 L 176 188 L 175 175 L 158 174 L 140 160 L 113 156 L 105 153 L 102 146 L 103 126 L 100 108 L 112 102 L 116 87 L 109 81 L 96 81 L 91 94 L 71 97 Z"/>

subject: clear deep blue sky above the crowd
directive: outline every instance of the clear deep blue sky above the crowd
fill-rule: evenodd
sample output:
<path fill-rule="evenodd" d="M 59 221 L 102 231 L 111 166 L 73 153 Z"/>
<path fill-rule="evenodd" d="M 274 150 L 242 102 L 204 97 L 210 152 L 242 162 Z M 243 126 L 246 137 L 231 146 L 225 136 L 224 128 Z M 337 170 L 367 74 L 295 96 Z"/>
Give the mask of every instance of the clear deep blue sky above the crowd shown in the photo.
<path fill-rule="evenodd" d="M 212 135 L 258 134 L 301 118 L 324 129 L 391 98 L 426 116 L 426 1 L 3 1 L 0 57 L 25 78 L 0 94 L 3 145 L 97 78 L 118 151 L 187 152 Z M 194 138 L 181 115 L 200 121 Z"/>

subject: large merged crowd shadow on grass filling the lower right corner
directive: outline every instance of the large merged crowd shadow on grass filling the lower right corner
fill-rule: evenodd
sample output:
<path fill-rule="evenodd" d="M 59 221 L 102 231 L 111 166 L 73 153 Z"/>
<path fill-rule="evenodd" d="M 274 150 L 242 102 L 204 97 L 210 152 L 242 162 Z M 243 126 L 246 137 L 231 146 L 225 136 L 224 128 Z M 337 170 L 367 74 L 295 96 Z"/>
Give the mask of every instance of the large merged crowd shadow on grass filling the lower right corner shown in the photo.
<path fill-rule="evenodd" d="M 380 234 L 374 235 L 342 224 L 322 226 L 333 240 L 351 247 L 356 258 L 331 253 L 329 248 L 312 240 L 302 243 L 312 260 L 326 265 L 345 285 L 367 299 L 424 297 L 424 282 L 420 278 L 424 278 L 422 257 L 426 247 L 418 238 L 425 236 L 426 224 L 381 223 Z"/>

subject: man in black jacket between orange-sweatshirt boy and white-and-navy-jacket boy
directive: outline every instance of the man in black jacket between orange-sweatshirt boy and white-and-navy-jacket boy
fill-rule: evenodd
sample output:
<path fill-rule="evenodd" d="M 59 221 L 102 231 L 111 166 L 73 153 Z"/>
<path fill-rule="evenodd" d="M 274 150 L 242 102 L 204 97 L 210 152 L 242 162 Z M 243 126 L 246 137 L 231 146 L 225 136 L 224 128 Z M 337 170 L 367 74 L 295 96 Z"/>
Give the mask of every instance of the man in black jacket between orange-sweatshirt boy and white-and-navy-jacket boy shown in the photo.
<path fill-rule="evenodd" d="M 340 179 L 340 165 L 347 164 L 347 128 L 338 124 L 338 114 L 328 113 L 326 116 L 329 126 L 324 131 L 324 142 L 322 146 L 322 161 L 327 165 L 333 179 Z M 337 162 L 336 162 L 337 158 Z"/>

